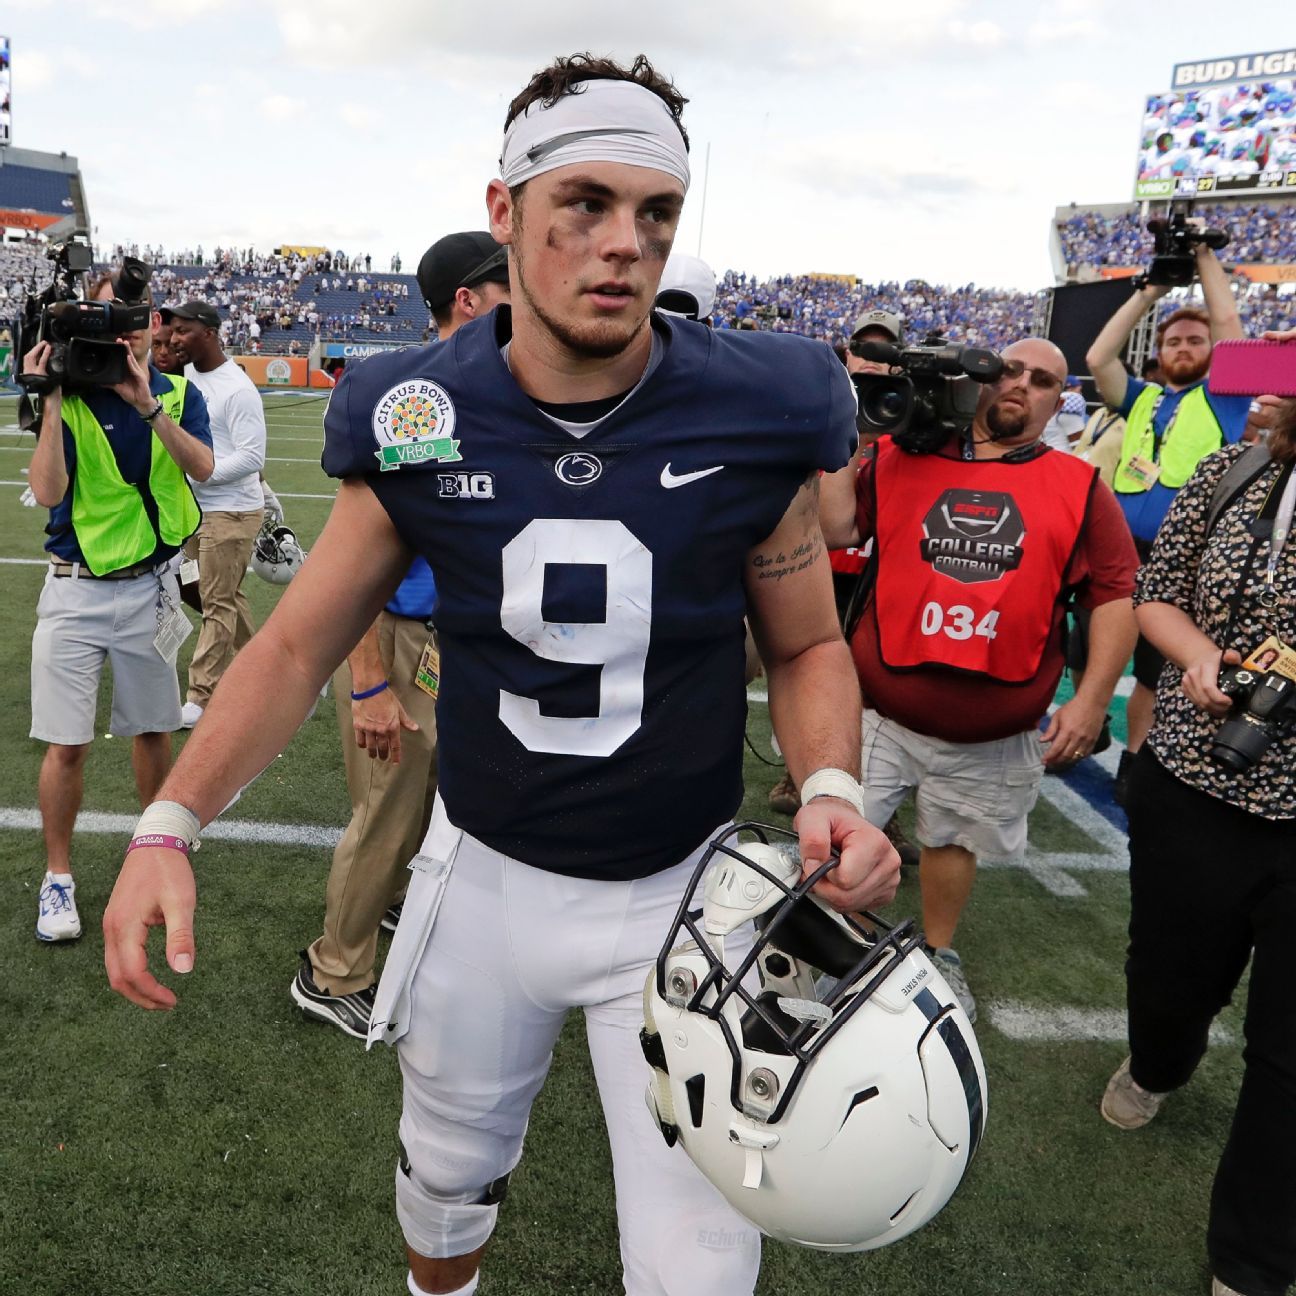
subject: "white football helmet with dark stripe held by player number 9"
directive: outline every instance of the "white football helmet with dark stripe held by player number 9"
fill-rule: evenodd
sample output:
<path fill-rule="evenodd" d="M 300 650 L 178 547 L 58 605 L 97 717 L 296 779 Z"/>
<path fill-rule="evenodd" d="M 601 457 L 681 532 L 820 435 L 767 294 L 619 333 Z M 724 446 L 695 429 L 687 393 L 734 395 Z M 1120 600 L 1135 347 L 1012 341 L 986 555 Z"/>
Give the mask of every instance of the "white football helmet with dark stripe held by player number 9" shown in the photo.
<path fill-rule="evenodd" d="M 985 1067 L 914 924 L 831 910 L 810 888 L 836 861 L 802 880 L 794 841 L 740 824 L 699 863 L 644 988 L 648 1109 L 763 1232 L 870 1251 L 954 1195 Z"/>

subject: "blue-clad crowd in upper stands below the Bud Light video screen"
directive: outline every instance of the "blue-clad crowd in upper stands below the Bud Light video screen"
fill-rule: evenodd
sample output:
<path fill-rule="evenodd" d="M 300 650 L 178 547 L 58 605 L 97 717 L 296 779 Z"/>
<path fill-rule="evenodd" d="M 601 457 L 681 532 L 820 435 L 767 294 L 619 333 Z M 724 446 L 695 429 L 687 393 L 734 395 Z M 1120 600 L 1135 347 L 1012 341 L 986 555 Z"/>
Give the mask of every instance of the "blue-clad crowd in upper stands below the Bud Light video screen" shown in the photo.
<path fill-rule="evenodd" d="M 1296 262 L 1296 203 L 1198 203 L 1192 215 L 1229 233 L 1226 262 Z M 1058 222 L 1058 233 L 1070 273 L 1085 266 L 1143 266 L 1152 255 L 1152 236 L 1133 202 L 1115 215 L 1077 209 Z"/>

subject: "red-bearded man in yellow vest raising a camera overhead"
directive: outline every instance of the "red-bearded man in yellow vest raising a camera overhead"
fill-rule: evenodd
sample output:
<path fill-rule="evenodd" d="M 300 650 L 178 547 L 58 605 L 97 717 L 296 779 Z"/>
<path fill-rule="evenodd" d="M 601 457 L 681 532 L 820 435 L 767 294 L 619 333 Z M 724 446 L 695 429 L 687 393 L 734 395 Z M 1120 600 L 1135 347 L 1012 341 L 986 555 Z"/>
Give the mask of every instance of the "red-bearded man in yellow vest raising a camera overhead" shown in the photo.
<path fill-rule="evenodd" d="M 1112 486 L 1144 561 L 1175 491 L 1201 459 L 1242 438 L 1249 408 L 1247 397 L 1214 395 L 1205 386 L 1213 345 L 1242 337 L 1232 290 L 1214 253 L 1226 236 L 1196 229 L 1181 213 L 1148 222 L 1148 227 L 1156 236 L 1157 255 L 1143 276 L 1146 283 L 1107 321 L 1086 356 L 1103 402 L 1125 419 Z M 1201 280 L 1207 311 L 1183 307 L 1157 328 L 1164 384 L 1131 378 L 1120 355 L 1134 325 L 1172 288 L 1191 284 L 1194 272 Z M 1128 750 L 1121 753 L 1116 776 L 1116 800 L 1122 804 L 1130 762 L 1152 723 L 1164 665 L 1161 654 L 1140 638 L 1134 649 L 1134 692 L 1126 708 Z"/>

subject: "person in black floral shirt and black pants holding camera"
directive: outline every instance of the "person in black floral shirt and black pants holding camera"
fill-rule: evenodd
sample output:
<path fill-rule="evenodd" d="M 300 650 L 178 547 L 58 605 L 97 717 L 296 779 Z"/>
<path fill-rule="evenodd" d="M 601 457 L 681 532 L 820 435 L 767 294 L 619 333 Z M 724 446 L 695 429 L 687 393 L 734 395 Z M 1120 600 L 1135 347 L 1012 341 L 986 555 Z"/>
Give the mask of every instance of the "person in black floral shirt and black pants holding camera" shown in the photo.
<path fill-rule="evenodd" d="M 1290 373 L 1296 330 L 1287 350 Z M 1249 959 L 1245 1070 L 1207 1231 L 1214 1296 L 1296 1279 L 1293 464 L 1287 400 L 1267 452 L 1230 446 L 1178 492 L 1135 596 L 1170 669 L 1130 776 L 1130 1056 L 1102 1113 L 1138 1129 L 1187 1083 Z"/>

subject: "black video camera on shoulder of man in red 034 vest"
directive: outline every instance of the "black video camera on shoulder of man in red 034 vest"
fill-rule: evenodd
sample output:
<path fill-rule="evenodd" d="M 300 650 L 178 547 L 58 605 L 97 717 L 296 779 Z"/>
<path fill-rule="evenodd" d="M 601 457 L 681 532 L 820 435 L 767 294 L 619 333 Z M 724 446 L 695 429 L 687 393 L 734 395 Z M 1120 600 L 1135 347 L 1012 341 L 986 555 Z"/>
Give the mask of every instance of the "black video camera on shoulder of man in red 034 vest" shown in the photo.
<path fill-rule="evenodd" d="M 980 388 L 1003 373 L 1003 360 L 978 346 L 928 338 L 924 346 L 851 341 L 862 360 L 886 364 L 890 373 L 855 373 L 862 428 L 892 433 L 911 455 L 940 450 L 972 425 Z"/>

